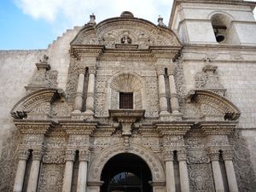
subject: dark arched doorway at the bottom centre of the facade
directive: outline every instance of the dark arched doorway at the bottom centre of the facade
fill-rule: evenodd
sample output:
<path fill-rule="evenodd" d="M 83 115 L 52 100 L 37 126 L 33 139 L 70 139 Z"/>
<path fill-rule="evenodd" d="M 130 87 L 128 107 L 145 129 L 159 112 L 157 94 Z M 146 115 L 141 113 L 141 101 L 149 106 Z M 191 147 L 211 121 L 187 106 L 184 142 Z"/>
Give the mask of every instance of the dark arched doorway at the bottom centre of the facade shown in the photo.
<path fill-rule="evenodd" d="M 101 192 L 151 192 L 152 175 L 136 154 L 117 154 L 102 170 Z"/>

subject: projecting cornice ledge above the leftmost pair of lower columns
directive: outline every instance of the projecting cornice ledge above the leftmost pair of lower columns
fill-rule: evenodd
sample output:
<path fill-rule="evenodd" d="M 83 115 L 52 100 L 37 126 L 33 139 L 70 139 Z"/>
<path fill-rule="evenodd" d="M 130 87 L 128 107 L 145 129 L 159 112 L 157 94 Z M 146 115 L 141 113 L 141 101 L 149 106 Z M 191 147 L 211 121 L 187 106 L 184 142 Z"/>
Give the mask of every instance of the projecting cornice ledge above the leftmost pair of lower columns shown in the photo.
<path fill-rule="evenodd" d="M 15 119 L 15 126 L 22 134 L 38 134 L 48 136 L 54 131 L 57 123 L 53 120 Z"/>

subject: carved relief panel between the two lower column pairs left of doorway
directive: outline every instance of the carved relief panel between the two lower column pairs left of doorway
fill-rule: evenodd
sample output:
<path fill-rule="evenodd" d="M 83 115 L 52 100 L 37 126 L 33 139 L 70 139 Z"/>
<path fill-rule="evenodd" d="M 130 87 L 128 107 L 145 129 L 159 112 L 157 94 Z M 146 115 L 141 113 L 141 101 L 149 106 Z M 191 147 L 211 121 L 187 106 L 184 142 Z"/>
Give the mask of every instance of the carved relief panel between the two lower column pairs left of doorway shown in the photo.
<path fill-rule="evenodd" d="M 43 164 L 39 177 L 39 192 L 60 192 L 63 184 L 64 165 Z"/>

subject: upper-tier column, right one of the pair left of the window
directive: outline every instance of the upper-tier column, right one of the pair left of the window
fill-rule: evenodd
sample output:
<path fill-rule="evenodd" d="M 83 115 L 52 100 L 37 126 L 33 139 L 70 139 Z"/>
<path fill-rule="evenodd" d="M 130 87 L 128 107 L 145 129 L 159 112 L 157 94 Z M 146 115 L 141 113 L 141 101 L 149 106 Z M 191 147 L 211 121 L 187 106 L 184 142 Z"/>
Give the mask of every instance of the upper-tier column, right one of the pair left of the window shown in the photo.
<path fill-rule="evenodd" d="M 89 67 L 89 82 L 86 98 L 85 113 L 94 114 L 94 88 L 95 88 L 96 67 Z"/>

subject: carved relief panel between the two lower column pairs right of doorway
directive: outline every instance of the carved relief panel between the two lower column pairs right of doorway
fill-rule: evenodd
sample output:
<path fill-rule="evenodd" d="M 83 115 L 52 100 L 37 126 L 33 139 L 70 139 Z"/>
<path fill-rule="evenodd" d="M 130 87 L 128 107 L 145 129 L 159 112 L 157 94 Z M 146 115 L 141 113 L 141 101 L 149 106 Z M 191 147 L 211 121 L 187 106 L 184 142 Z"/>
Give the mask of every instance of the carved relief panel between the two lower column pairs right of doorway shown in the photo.
<path fill-rule="evenodd" d="M 190 164 L 189 186 L 191 192 L 214 192 L 212 170 L 210 164 Z"/>

